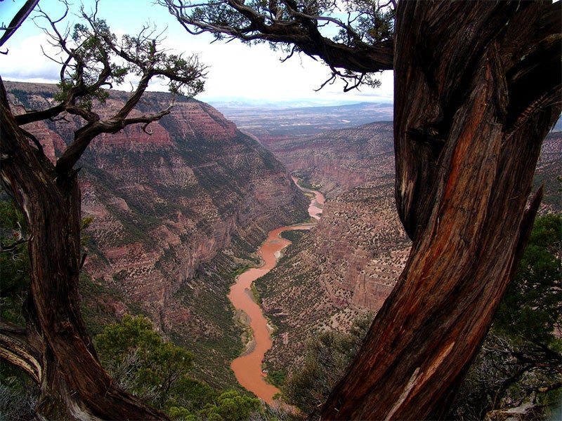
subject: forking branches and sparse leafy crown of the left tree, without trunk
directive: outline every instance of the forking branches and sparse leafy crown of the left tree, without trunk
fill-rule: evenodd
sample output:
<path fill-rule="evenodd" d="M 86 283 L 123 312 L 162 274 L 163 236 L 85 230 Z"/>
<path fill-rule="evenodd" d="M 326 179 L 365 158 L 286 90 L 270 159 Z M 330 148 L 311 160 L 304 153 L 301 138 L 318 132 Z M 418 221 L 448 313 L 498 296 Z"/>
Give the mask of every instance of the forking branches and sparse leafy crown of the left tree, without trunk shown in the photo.
<path fill-rule="evenodd" d="M 61 60 L 51 58 L 61 65 L 60 93 L 55 96 L 60 103 L 41 112 L 17 117 L 18 123 L 24 124 L 67 113 L 86 121 L 86 125 L 74 133 L 74 142 L 58 159 L 55 171 L 59 175 L 72 171 L 91 140 L 100 133 L 116 133 L 134 123 L 144 123 L 143 130 L 146 131 L 148 123 L 169 114 L 170 107 L 152 116 L 129 118 L 152 78 L 167 79 L 172 94 L 196 95 L 203 89 L 202 79 L 205 76 L 205 67 L 197 60 L 197 56 L 184 59 L 181 55 L 171 55 L 160 49 L 163 32 L 157 33 L 155 27 L 145 25 L 136 36 L 125 35 L 118 41 L 105 21 L 97 18 L 97 1 L 91 13 L 86 13 L 84 6 L 80 8 L 80 17 L 85 24 L 74 25 L 72 36 L 68 28 L 61 32 L 58 25 L 69 11 L 69 4 L 66 1 L 64 4 L 65 13 L 58 20 L 51 19 L 39 9 L 41 18 L 46 20 L 46 27 L 49 28 L 44 30 L 51 44 L 66 55 Z M 124 60 L 125 64 L 117 65 L 116 59 Z M 122 83 L 131 72 L 139 74 L 140 81 L 125 104 L 113 116 L 102 121 L 98 112 L 93 110 L 93 100 L 105 101 L 109 93 L 104 87 Z"/>

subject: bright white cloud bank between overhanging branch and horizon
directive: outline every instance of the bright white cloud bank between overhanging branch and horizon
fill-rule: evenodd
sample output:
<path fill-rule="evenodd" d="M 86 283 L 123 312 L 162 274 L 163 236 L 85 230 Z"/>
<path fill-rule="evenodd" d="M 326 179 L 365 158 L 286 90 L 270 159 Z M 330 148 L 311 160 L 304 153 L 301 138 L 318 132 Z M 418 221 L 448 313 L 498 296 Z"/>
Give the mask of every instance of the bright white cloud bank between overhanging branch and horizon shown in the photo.
<path fill-rule="evenodd" d="M 392 101 L 392 72 L 381 75 L 383 86 L 362 87 L 360 91 L 343 93 L 343 83 L 328 84 L 315 92 L 329 78 L 330 71 L 320 61 L 307 55 L 294 55 L 285 62 L 282 52 L 267 45 L 247 46 L 239 41 L 215 42 L 209 37 L 181 37 L 181 44 L 169 41 L 166 46 L 186 53 L 197 53 L 209 66 L 205 91 L 201 98 L 239 97 L 263 100 L 323 98 L 334 100 Z"/>

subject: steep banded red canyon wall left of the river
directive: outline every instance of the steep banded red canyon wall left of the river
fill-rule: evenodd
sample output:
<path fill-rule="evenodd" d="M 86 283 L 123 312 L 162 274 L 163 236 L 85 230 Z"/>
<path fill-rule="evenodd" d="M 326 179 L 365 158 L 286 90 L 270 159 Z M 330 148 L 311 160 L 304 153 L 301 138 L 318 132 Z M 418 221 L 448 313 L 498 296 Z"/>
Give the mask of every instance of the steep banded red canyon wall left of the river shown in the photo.
<path fill-rule="evenodd" d="M 44 109 L 54 86 L 6 83 L 16 113 Z M 108 115 L 126 93 L 112 92 Z M 170 95 L 147 93 L 139 113 L 167 107 Z M 53 159 L 77 121 L 27 124 Z M 240 330 L 226 299 L 235 258 L 255 250 L 275 227 L 306 218 L 308 201 L 258 142 L 213 107 L 176 98 L 171 114 L 91 142 L 79 161 L 84 232 L 83 312 L 97 333 L 125 313 L 146 314 L 168 338 L 197 351 L 209 382 L 233 383 L 228 360 Z M 230 377 L 229 377 L 230 376 Z"/>

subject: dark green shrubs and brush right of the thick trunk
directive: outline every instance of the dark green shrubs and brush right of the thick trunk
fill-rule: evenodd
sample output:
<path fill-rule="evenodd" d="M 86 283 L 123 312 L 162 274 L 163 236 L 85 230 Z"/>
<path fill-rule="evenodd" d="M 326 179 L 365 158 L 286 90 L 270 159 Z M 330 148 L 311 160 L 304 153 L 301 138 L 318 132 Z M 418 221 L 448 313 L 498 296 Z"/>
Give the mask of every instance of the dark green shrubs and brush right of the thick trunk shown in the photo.
<path fill-rule="evenodd" d="M 459 390 L 450 417 L 481 420 L 517 408 L 543 419 L 562 398 L 561 215 L 537 218 L 514 281 Z"/>

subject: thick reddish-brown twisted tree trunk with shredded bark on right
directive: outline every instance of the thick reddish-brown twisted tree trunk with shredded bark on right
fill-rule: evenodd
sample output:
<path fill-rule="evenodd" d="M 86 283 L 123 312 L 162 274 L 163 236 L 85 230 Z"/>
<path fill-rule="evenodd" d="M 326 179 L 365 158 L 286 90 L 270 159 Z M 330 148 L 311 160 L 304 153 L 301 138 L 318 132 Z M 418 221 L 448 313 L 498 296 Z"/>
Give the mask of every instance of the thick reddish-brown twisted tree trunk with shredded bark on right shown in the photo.
<path fill-rule="evenodd" d="M 525 211 L 561 112 L 560 32 L 550 1 L 400 2 L 396 197 L 414 243 L 323 419 L 446 415 L 540 201 Z"/>

